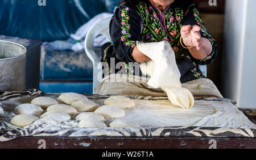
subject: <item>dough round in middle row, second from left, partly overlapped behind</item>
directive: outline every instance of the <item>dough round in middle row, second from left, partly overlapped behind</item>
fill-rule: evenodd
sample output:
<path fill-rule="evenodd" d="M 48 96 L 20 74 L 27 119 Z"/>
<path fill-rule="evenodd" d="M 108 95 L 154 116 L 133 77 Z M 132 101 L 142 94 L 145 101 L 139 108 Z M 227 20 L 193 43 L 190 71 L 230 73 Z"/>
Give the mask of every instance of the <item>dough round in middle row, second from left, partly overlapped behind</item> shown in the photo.
<path fill-rule="evenodd" d="M 48 107 L 47 112 L 48 111 L 58 111 L 58 112 L 67 113 L 69 115 L 77 114 L 76 109 L 68 105 L 52 105 Z"/>

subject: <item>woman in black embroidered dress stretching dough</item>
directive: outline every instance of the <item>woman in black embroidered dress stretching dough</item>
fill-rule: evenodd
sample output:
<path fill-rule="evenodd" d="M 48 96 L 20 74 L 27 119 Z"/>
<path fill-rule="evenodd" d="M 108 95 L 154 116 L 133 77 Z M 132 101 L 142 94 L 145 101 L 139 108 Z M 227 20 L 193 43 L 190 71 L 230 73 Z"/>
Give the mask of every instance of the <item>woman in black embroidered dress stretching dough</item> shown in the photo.
<path fill-rule="evenodd" d="M 170 42 L 181 83 L 204 77 L 196 64 L 207 65 L 217 56 L 216 41 L 192 0 L 121 0 L 110 22 L 110 35 L 113 42 L 102 46 L 102 62 L 108 63 L 108 73 L 120 70 L 110 67 L 113 58 L 115 64 L 122 63 L 128 75 L 134 75 L 129 62 L 150 60 L 138 50 L 136 41 Z"/>

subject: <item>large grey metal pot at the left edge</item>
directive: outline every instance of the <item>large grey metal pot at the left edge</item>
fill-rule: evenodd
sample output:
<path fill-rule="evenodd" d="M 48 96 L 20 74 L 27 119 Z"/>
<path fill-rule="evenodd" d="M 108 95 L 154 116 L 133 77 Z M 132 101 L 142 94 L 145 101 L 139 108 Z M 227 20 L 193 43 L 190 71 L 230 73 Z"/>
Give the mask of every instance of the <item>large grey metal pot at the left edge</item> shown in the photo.
<path fill-rule="evenodd" d="M 0 40 L 0 90 L 25 89 L 26 47 Z"/>

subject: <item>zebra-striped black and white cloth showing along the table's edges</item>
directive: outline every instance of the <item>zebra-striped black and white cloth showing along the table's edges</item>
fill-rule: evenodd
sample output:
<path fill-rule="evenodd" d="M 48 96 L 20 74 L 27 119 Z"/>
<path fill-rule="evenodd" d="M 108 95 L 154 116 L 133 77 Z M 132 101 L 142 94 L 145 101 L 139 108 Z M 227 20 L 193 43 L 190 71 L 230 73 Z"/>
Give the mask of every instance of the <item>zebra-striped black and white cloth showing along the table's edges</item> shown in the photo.
<path fill-rule="evenodd" d="M 58 97 L 60 94 L 47 94 L 40 90 L 28 90 L 24 92 L 1 92 L 0 102 L 15 101 L 16 98 L 33 98 L 36 96 Z M 89 99 L 105 99 L 112 95 L 90 95 L 85 94 Z M 138 100 L 167 100 L 167 97 L 143 97 L 129 96 Z M 230 101 L 223 98 L 196 98 L 204 101 Z M 19 99 L 20 101 L 20 99 Z M 10 129 L 9 124 L 0 120 L 0 142 L 9 141 L 23 136 L 55 136 L 55 137 L 256 137 L 256 129 L 221 128 L 221 127 L 140 127 L 140 128 L 16 128 Z"/>

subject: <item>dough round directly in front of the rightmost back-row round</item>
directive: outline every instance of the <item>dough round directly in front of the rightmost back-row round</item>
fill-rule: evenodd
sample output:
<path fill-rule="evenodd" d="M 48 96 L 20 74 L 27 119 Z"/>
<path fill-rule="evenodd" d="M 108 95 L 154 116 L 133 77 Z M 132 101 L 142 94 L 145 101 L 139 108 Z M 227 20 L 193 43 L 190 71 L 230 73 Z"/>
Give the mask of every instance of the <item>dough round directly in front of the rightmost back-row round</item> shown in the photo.
<path fill-rule="evenodd" d="M 125 116 L 125 111 L 117 106 L 102 106 L 94 113 L 101 114 L 105 118 L 113 119 Z"/>

